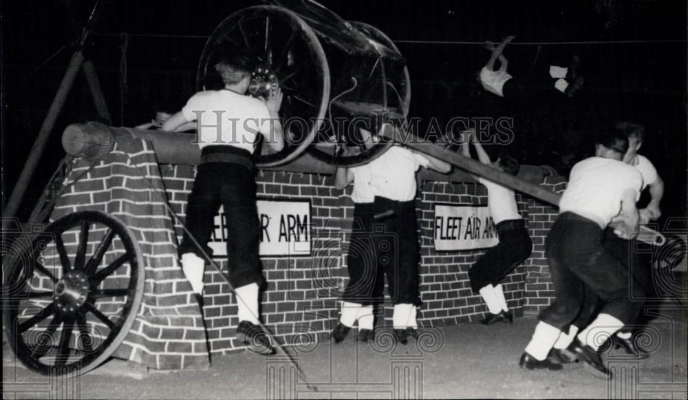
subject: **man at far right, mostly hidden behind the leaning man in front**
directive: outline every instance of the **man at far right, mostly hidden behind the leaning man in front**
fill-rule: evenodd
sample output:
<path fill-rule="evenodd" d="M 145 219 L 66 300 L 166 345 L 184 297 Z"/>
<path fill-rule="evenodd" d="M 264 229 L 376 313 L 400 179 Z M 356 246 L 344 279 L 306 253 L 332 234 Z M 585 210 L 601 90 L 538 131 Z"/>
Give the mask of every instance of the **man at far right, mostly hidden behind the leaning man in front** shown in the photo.
<path fill-rule="evenodd" d="M 638 149 L 643 145 L 643 140 L 645 138 L 645 128 L 642 125 L 621 121 L 616 123 L 616 129 L 623 132 L 628 140 L 628 150 L 623 156 L 623 162 L 632 165 L 641 173 L 643 177 L 643 189 L 641 189 L 641 191 L 645 188 L 649 188 L 650 201 L 646 207 L 638 210 L 640 223 L 647 224 L 647 222 L 657 220 L 662 215 L 659 204 L 664 194 L 664 181 L 658 175 L 652 162 L 645 156 L 638 154 Z M 643 288 L 644 293 L 649 297 L 654 297 L 656 291 L 654 290 L 651 266 L 645 254 L 636 251 L 636 241 L 634 239 L 627 240 L 621 238 L 614 233 L 612 227 L 608 227 L 605 229 L 604 246 L 605 249 L 614 254 L 628 269 L 633 279 Z M 635 302 L 644 304 L 644 299 L 639 297 L 638 293 L 630 293 L 630 295 Z M 561 363 L 573 361 L 573 355 L 568 353 L 566 348 L 573 340 L 579 328 L 588 326 L 592 317 L 594 317 L 596 308 L 599 307 L 599 298 L 597 298 L 594 293 L 589 293 L 587 299 L 580 315 L 571 324 L 571 334 L 562 335 L 555 344 L 553 355 L 555 355 L 557 360 Z M 643 326 L 643 324 L 647 322 L 647 319 L 648 317 L 643 313 L 638 315 L 635 328 L 624 328 L 619 330 L 613 337 L 614 343 L 612 346 L 614 346 L 614 348 L 622 348 L 627 354 L 633 355 L 634 357 L 641 359 L 647 358 L 647 352 L 638 348 L 632 340 L 633 331 Z"/>

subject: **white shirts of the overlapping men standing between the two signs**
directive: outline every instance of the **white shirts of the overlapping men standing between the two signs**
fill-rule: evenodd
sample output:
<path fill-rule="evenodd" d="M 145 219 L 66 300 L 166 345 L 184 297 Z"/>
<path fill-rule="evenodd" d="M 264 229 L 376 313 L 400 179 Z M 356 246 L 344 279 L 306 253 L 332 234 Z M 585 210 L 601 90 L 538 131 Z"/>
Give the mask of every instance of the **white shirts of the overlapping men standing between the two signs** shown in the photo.
<path fill-rule="evenodd" d="M 392 146 L 375 160 L 350 169 L 354 173 L 354 202 L 372 202 L 381 196 L 406 202 L 416 198 L 416 171 L 430 160 L 404 147 Z"/>

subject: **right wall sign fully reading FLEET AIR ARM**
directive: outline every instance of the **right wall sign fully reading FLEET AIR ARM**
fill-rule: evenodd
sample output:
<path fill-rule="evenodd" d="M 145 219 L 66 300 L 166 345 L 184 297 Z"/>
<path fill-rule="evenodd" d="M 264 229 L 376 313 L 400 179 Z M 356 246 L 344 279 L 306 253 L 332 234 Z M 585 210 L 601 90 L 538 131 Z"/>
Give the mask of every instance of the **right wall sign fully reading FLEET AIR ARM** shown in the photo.
<path fill-rule="evenodd" d="M 455 251 L 492 247 L 499 243 L 488 207 L 435 204 L 435 250 Z"/>

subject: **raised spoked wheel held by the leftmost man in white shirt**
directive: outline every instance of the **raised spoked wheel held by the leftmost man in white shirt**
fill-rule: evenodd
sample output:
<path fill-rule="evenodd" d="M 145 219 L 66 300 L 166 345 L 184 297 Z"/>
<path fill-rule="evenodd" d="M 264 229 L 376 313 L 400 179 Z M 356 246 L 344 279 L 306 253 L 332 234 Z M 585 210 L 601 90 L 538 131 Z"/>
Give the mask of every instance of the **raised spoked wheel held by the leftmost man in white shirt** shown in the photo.
<path fill-rule="evenodd" d="M 257 63 L 249 89 L 265 96 L 279 85 L 284 97 L 280 116 L 286 145 L 279 153 L 261 146 L 258 167 L 273 167 L 296 158 L 323 123 L 330 98 L 330 68 L 320 41 L 297 14 L 276 6 L 253 6 L 227 17 L 213 31 L 198 66 L 199 90 L 222 87 L 214 69 L 221 56 L 249 56 Z"/>

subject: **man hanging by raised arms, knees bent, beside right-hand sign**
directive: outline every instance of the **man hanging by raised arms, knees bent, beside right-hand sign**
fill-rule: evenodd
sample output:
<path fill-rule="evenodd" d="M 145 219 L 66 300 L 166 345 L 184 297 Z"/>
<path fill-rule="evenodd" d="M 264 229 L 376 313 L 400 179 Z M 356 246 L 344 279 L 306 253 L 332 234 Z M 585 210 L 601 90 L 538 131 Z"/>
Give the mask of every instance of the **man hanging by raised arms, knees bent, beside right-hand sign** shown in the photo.
<path fill-rule="evenodd" d="M 478 160 L 499 171 L 516 175 L 519 164 L 506 154 L 494 162 L 475 137 L 475 130 L 464 131 L 462 154 L 471 157 L 469 142 L 473 143 Z M 503 321 L 513 323 L 513 314 L 506 304 L 502 282 L 519 264 L 524 262 L 533 251 L 528 230 L 523 218 L 518 213 L 514 191 L 484 178 L 478 182 L 487 188 L 487 202 L 492 219 L 496 224 L 499 244 L 488 249 L 469 270 L 469 279 L 473 292 L 480 293 L 488 308 L 488 315 L 482 324 L 494 324 Z"/>

